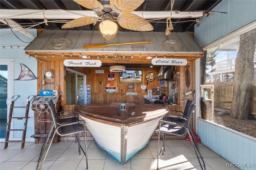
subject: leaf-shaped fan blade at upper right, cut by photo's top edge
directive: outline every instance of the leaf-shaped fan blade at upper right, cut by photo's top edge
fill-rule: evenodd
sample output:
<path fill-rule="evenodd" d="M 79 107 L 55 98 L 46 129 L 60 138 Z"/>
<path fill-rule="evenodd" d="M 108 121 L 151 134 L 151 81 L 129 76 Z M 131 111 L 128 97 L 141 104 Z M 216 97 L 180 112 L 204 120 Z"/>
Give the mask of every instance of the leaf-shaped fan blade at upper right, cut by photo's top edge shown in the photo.
<path fill-rule="evenodd" d="M 122 14 L 136 10 L 145 0 L 110 0 L 110 7 L 115 6 Z"/>

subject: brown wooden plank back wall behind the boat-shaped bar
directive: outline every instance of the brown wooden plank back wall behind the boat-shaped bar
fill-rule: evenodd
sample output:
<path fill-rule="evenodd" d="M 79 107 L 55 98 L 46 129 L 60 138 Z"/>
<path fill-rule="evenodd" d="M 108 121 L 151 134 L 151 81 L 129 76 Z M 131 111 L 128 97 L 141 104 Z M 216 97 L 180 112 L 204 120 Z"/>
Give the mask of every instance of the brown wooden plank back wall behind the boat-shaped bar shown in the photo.
<path fill-rule="evenodd" d="M 119 83 L 119 72 L 113 73 L 114 74 L 114 81 L 108 81 L 108 71 L 109 67 L 101 67 L 100 69 L 104 70 L 104 74 L 102 73 L 95 73 L 95 68 L 88 68 L 86 71 L 87 75 L 87 84 L 92 85 L 92 103 L 111 103 L 111 102 L 135 102 L 135 103 L 144 103 L 144 100 L 142 102 L 142 99 L 144 98 L 144 94 L 146 95 L 146 90 L 142 90 L 140 88 L 140 85 L 146 84 L 150 89 L 153 87 L 159 86 L 158 81 L 153 82 L 146 82 L 145 75 L 147 72 L 154 72 L 155 75 L 158 74 L 159 69 L 142 69 L 142 83 L 134 83 L 134 89 L 128 89 L 129 83 Z M 138 68 L 132 68 L 132 69 L 138 69 Z M 141 68 L 140 68 L 141 69 Z M 100 84 L 101 82 L 101 84 Z M 116 90 L 113 93 L 108 93 L 105 90 L 105 87 L 108 83 L 114 83 L 116 86 Z M 122 91 L 122 89 L 124 91 Z M 167 88 L 166 88 L 167 89 Z M 126 95 L 127 92 L 136 92 L 137 94 L 142 93 L 142 95 Z M 100 95 L 100 97 L 95 97 L 94 95 Z"/>

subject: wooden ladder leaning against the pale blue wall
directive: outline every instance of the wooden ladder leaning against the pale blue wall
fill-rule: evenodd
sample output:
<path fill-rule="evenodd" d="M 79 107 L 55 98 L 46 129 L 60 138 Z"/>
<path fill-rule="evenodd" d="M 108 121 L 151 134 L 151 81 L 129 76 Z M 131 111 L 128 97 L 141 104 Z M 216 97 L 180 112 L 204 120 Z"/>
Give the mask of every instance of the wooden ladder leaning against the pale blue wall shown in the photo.
<path fill-rule="evenodd" d="M 34 99 L 35 96 L 30 95 L 30 96 L 28 97 L 27 105 L 26 105 L 26 106 L 24 106 L 24 107 L 16 107 L 16 106 L 14 106 L 14 102 L 15 102 L 19 97 L 20 97 L 20 95 L 14 95 L 14 96 L 12 97 L 12 103 L 11 103 L 11 105 L 10 105 L 8 123 L 6 123 L 7 129 L 6 129 L 6 134 L 5 134 L 4 149 L 6 149 L 6 148 L 8 147 L 8 143 L 9 143 L 9 142 L 21 142 L 21 149 L 24 148 L 24 145 L 25 145 L 27 123 L 28 123 L 28 118 L 29 118 L 29 117 L 28 117 L 29 105 L 30 105 L 30 102 L 32 101 L 32 99 Z M 30 99 L 31 97 L 32 97 L 32 99 Z M 29 99 L 30 99 L 30 100 L 29 100 Z M 12 117 L 13 109 L 14 109 L 14 108 L 26 108 L 25 117 Z M 24 121 L 24 128 L 23 128 L 23 129 L 11 129 L 12 119 L 17 119 L 17 120 L 25 119 L 25 121 Z M 10 131 L 23 131 L 22 140 L 9 140 Z"/>

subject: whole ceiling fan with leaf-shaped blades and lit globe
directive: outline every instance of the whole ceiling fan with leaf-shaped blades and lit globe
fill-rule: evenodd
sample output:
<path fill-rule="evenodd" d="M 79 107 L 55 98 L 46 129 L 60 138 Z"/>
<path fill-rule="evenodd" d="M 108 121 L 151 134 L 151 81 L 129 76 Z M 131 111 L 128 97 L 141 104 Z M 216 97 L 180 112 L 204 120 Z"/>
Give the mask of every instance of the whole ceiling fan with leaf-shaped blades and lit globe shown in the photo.
<path fill-rule="evenodd" d="M 73 0 L 74 2 L 95 11 L 95 16 L 83 16 L 64 24 L 61 28 L 75 28 L 93 24 L 99 20 L 102 36 L 111 41 L 116 36 L 118 26 L 113 20 L 125 29 L 134 31 L 152 31 L 153 26 L 144 18 L 132 14 L 144 0 Z"/>

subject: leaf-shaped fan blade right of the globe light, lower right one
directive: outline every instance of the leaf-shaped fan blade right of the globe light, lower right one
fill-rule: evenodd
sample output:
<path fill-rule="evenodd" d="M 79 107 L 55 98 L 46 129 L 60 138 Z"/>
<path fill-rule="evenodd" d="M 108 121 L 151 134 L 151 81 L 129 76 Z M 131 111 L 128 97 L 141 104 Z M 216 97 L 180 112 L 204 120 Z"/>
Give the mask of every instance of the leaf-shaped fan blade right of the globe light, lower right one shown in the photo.
<path fill-rule="evenodd" d="M 152 31 L 153 26 L 135 14 L 122 14 L 118 17 L 118 24 L 125 29 L 134 31 Z"/>

